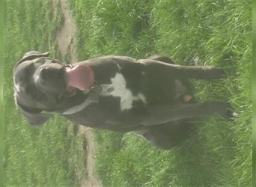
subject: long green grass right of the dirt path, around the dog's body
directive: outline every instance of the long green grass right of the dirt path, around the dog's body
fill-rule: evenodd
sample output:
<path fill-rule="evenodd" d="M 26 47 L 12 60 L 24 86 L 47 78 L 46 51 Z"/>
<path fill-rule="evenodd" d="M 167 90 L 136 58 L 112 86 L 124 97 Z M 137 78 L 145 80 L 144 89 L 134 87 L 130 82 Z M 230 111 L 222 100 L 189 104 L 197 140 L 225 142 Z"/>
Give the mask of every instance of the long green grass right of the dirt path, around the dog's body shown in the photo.
<path fill-rule="evenodd" d="M 168 55 L 178 64 L 223 67 L 227 79 L 194 82 L 201 101 L 231 102 L 234 121 L 198 119 L 170 151 L 132 134 L 95 130 L 105 186 L 252 186 L 251 1 L 70 1 L 79 60 L 95 55 Z"/>

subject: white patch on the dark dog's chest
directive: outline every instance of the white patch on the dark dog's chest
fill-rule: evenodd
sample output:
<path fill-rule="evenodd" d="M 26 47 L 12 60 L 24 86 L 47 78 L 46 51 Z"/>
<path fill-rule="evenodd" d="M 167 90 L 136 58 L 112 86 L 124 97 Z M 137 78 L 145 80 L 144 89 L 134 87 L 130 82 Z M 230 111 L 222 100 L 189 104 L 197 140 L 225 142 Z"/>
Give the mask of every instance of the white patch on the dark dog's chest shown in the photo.
<path fill-rule="evenodd" d="M 141 100 L 146 103 L 146 98 L 142 93 L 136 95 L 132 94 L 132 91 L 127 89 L 127 82 L 124 79 L 124 76 L 121 73 L 117 73 L 114 78 L 111 79 L 111 83 L 108 85 L 100 85 L 102 91 L 101 96 L 117 96 L 120 97 L 120 107 L 121 110 L 128 110 L 132 108 L 132 102 Z M 111 109 L 111 108 L 109 108 Z"/>

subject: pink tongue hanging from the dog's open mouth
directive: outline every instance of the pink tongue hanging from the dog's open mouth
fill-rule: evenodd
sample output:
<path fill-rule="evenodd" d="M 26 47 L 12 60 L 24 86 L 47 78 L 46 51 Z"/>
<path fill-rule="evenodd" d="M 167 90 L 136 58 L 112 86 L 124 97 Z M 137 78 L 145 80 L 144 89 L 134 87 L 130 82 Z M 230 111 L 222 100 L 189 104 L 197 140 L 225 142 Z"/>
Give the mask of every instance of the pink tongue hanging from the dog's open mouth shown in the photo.
<path fill-rule="evenodd" d="M 78 88 L 84 91 L 94 84 L 94 72 L 91 67 L 79 64 L 73 68 L 66 68 L 67 87 Z"/>

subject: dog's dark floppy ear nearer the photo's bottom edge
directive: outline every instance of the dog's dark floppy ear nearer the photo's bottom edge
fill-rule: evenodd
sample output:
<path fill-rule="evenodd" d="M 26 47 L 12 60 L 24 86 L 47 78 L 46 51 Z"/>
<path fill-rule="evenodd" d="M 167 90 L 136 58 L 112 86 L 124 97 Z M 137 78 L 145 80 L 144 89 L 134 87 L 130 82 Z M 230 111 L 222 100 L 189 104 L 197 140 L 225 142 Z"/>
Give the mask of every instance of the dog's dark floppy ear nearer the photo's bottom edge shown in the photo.
<path fill-rule="evenodd" d="M 22 112 L 25 119 L 28 120 L 28 123 L 31 126 L 42 126 L 43 123 L 46 122 L 46 120 L 49 120 L 50 117 L 52 117 L 50 114 L 43 114 L 41 113 L 42 110 L 40 109 L 26 109 L 22 107 L 22 105 L 19 105 L 19 103 L 16 102 L 17 107 L 19 108 L 19 111 Z"/>

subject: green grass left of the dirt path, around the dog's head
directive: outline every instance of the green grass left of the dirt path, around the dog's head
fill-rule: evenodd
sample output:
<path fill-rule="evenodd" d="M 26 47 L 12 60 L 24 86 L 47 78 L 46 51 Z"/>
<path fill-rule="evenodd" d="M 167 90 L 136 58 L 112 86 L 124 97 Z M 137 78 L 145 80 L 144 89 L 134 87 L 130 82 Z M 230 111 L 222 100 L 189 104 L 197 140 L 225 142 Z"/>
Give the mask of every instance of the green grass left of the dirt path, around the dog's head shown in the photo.
<path fill-rule="evenodd" d="M 12 69 L 25 52 L 50 51 L 61 58 L 55 41 L 63 20 L 59 6 L 53 17 L 52 1 L 6 1 L 5 12 L 5 186 L 78 186 L 77 177 L 86 175 L 86 142 L 76 135 L 76 126 L 55 115 L 45 126 L 32 128 L 13 101 Z"/>

